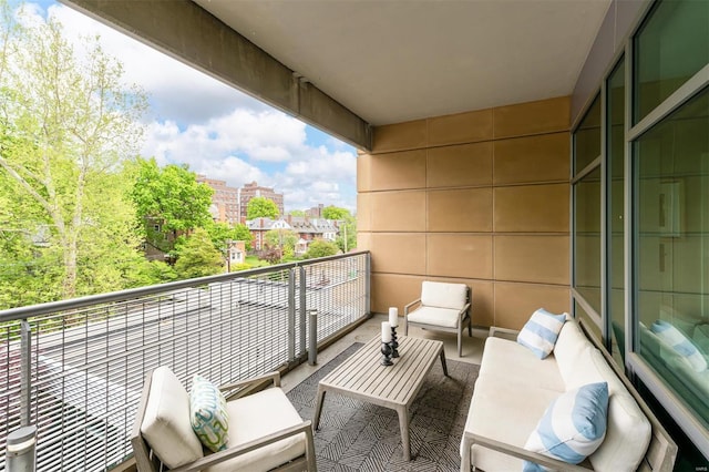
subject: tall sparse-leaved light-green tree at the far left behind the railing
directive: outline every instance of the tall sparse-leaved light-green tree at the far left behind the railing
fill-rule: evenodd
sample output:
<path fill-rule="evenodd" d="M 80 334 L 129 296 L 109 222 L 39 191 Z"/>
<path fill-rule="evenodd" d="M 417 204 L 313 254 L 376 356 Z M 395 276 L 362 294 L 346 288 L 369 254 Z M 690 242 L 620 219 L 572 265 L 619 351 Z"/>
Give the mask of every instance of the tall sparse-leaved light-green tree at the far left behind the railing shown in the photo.
<path fill-rule="evenodd" d="M 39 285 L 34 302 L 133 284 L 140 239 L 122 162 L 140 148 L 145 94 L 125 85 L 97 38 L 74 48 L 55 20 L 20 28 L 7 2 L 0 10 L 0 181 L 9 201 L 0 259 L 16 261 L 0 289 Z"/>

